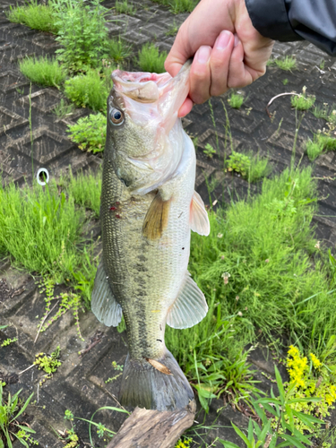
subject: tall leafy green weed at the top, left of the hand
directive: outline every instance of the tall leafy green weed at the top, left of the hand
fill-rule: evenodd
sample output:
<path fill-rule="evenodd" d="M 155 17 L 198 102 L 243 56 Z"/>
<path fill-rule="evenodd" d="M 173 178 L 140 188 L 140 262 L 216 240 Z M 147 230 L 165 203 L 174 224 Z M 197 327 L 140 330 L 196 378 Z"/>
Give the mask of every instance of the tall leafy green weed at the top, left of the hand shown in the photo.
<path fill-rule="evenodd" d="M 90 4 L 85 0 L 69 0 L 66 7 L 55 2 L 54 10 L 59 28 L 56 40 L 62 46 L 56 50 L 58 60 L 73 72 L 99 66 L 106 56 L 108 9 L 100 0 L 92 0 Z"/>

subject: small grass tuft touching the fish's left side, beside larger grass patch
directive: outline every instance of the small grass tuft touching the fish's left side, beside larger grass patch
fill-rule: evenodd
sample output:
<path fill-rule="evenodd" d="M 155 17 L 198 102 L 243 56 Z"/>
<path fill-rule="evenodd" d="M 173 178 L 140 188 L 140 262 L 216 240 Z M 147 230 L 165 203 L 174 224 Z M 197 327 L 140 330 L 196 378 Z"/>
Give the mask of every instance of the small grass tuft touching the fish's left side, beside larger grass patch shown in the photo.
<path fill-rule="evenodd" d="M 65 190 L 73 196 L 73 199 L 82 207 L 86 207 L 95 213 L 95 218 L 99 218 L 100 194 L 101 194 L 101 170 L 99 174 L 79 173 L 73 177 L 70 169 L 69 177 L 63 179 Z"/>

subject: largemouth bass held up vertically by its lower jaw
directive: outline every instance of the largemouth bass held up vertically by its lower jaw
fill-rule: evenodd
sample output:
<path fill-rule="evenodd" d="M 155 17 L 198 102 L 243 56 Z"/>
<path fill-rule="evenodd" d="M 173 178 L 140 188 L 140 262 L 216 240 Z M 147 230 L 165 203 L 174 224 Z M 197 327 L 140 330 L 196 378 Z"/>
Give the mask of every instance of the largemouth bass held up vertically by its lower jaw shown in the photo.
<path fill-rule="evenodd" d="M 91 309 L 107 326 L 125 318 L 123 406 L 175 410 L 194 399 L 165 345 L 166 323 L 192 327 L 208 311 L 187 271 L 191 230 L 210 232 L 194 191 L 194 144 L 177 117 L 190 65 L 174 78 L 112 73 L 100 205 L 103 251 Z"/>

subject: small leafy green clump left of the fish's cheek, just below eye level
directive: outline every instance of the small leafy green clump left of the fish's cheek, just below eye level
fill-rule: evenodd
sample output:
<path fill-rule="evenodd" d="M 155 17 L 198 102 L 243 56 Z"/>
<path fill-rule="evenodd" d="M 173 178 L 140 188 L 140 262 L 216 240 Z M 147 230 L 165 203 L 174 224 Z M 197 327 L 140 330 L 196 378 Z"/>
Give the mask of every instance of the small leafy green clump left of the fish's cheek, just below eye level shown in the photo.
<path fill-rule="evenodd" d="M 103 114 L 84 116 L 75 125 L 68 125 L 69 138 L 78 143 L 82 151 L 104 151 L 107 119 Z"/>

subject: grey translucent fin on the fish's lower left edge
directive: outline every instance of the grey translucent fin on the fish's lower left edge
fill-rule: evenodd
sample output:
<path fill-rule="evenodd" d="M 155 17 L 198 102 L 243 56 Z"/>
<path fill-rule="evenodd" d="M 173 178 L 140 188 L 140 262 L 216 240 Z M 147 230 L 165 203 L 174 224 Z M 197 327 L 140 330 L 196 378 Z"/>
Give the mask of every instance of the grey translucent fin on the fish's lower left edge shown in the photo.
<path fill-rule="evenodd" d="M 91 296 L 91 309 L 99 322 L 105 323 L 108 327 L 116 327 L 121 321 L 122 309 L 116 302 L 113 292 L 108 284 L 108 278 L 103 262 L 99 263 L 94 287 Z"/>

